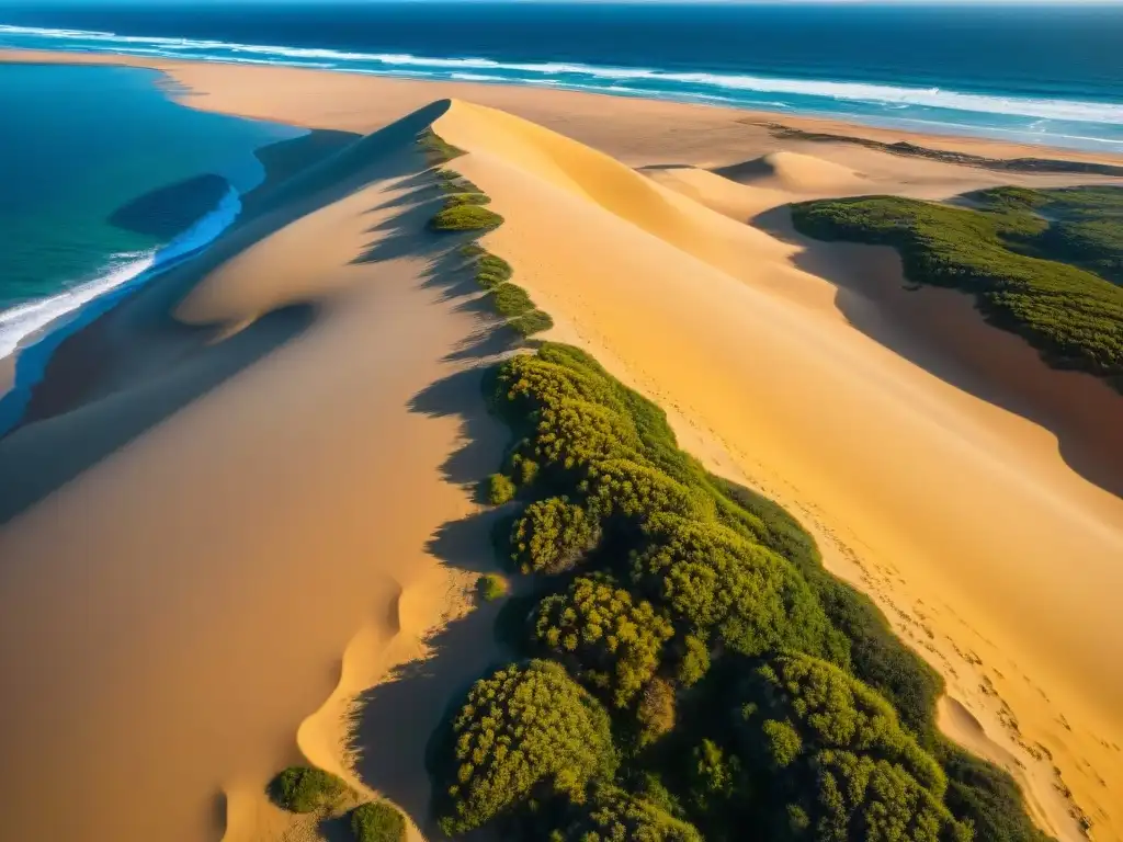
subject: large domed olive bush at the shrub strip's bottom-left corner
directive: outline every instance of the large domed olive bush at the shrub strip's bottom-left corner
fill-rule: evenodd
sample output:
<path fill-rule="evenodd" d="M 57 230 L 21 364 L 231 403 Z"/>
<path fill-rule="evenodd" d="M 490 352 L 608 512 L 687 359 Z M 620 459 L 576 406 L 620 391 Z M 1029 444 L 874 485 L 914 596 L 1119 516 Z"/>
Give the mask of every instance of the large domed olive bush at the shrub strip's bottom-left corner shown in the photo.
<path fill-rule="evenodd" d="M 618 759 L 604 708 L 550 661 L 510 666 L 475 683 L 453 723 L 446 833 L 465 833 L 529 798 L 584 803 Z"/>

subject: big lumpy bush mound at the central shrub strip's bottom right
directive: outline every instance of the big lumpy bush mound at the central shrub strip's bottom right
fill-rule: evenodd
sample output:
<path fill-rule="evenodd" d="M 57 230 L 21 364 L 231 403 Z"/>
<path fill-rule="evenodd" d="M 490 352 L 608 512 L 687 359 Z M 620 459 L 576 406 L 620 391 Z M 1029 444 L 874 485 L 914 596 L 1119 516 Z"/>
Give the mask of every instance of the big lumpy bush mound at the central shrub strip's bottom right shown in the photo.
<path fill-rule="evenodd" d="M 769 824 L 794 838 L 965 842 L 971 827 L 943 803 L 939 763 L 884 698 L 839 668 L 805 656 L 760 667 L 743 707 L 746 759 Z M 805 824 L 806 833 L 792 833 Z"/>

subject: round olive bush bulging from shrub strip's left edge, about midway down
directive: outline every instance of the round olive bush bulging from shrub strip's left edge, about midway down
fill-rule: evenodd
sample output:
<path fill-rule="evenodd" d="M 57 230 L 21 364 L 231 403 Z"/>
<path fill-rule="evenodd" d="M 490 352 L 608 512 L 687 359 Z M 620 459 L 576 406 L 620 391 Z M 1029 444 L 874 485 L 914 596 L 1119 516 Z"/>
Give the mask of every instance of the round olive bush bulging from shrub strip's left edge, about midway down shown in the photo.
<path fill-rule="evenodd" d="M 595 515 L 566 497 L 527 506 L 511 531 L 511 559 L 522 573 L 563 573 L 577 565 L 601 540 Z"/>

